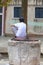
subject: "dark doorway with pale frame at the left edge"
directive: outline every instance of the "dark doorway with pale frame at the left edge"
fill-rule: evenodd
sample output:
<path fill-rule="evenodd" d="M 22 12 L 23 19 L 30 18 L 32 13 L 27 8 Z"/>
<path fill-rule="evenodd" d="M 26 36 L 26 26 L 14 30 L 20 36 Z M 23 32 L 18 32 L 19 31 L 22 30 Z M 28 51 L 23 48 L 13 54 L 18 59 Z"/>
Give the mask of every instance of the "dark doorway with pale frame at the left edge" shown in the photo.
<path fill-rule="evenodd" d="M 4 7 L 0 7 L 0 36 L 4 35 Z"/>

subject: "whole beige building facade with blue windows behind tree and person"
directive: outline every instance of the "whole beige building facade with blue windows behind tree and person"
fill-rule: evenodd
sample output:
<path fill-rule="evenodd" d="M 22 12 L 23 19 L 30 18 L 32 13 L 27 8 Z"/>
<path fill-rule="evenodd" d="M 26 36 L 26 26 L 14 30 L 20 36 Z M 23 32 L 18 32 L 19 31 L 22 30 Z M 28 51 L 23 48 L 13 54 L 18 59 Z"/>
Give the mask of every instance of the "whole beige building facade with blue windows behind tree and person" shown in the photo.
<path fill-rule="evenodd" d="M 22 15 L 22 0 L 12 0 L 5 8 L 0 8 L 0 35 L 12 34 L 11 24 L 19 22 Z M 28 0 L 27 33 L 43 35 L 43 0 Z"/>

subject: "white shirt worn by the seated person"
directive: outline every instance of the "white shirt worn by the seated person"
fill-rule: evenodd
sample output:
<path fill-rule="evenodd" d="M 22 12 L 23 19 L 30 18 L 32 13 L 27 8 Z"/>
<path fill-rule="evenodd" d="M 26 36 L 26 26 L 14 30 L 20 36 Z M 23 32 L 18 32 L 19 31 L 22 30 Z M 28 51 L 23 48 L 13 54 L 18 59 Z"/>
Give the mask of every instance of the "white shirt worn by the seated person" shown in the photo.
<path fill-rule="evenodd" d="M 25 37 L 26 36 L 26 24 L 23 22 L 20 22 L 20 23 L 14 24 L 14 25 L 18 27 L 18 30 L 13 29 L 15 32 L 15 35 L 17 37 Z"/>

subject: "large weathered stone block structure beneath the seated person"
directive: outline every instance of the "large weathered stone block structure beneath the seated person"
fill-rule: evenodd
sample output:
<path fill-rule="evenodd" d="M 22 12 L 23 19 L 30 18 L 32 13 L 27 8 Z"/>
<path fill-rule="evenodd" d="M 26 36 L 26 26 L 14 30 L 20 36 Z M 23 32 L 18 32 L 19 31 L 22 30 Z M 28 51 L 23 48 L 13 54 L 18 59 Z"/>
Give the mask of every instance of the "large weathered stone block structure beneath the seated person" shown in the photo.
<path fill-rule="evenodd" d="M 9 63 L 12 65 L 39 65 L 40 41 L 8 41 Z"/>

